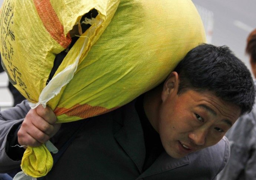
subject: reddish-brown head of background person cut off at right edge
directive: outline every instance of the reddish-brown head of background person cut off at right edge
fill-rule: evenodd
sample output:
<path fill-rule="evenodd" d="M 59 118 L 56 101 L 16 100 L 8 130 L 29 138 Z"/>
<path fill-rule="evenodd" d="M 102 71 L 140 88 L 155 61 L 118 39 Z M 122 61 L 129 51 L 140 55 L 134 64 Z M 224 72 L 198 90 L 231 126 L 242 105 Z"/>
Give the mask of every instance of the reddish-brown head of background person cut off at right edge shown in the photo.
<path fill-rule="evenodd" d="M 245 51 L 250 56 L 251 70 L 256 77 L 256 29 L 249 34 Z"/>

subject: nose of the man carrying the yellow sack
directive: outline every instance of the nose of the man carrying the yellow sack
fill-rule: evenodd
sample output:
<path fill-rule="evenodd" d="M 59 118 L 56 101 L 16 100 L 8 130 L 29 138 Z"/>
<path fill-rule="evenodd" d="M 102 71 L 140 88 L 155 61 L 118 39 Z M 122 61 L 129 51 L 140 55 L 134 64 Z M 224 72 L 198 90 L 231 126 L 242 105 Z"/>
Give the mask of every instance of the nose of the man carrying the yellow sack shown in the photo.
<path fill-rule="evenodd" d="M 197 129 L 189 133 L 189 138 L 192 139 L 193 143 L 196 145 L 204 145 L 207 134 L 207 129 Z"/>

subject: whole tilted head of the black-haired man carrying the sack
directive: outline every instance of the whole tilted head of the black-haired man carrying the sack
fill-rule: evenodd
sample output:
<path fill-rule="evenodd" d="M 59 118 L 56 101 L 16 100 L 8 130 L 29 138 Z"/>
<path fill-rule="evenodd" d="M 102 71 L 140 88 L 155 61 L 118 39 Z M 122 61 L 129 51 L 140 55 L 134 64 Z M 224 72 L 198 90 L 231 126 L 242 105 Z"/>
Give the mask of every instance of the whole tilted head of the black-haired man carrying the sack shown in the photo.
<path fill-rule="evenodd" d="M 163 84 L 157 118 L 166 152 L 181 158 L 218 143 L 254 104 L 250 71 L 228 47 L 202 44 L 192 49 Z"/>

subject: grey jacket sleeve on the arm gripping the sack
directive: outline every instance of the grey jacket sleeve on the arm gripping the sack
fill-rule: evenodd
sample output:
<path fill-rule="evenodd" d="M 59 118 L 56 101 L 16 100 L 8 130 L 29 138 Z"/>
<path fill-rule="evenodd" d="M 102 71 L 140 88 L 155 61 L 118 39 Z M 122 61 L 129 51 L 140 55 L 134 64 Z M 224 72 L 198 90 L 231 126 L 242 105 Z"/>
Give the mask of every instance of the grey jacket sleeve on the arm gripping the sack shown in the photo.
<path fill-rule="evenodd" d="M 13 108 L 0 111 L 0 172 L 11 171 L 21 164 L 21 160 L 11 159 L 6 150 L 9 146 L 10 133 L 15 132 L 22 124 L 29 110 L 28 101 L 24 100 Z"/>

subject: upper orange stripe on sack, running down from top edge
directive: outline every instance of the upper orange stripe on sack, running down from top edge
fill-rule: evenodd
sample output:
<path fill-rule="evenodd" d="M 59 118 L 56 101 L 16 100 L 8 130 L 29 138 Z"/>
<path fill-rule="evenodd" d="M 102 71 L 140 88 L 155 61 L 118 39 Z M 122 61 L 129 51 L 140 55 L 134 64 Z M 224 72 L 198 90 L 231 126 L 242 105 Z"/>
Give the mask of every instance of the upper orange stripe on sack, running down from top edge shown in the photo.
<path fill-rule="evenodd" d="M 65 49 L 71 43 L 71 37 L 69 34 L 65 37 L 64 28 L 59 21 L 50 0 L 33 0 L 38 15 L 45 26 L 48 33 Z"/>

